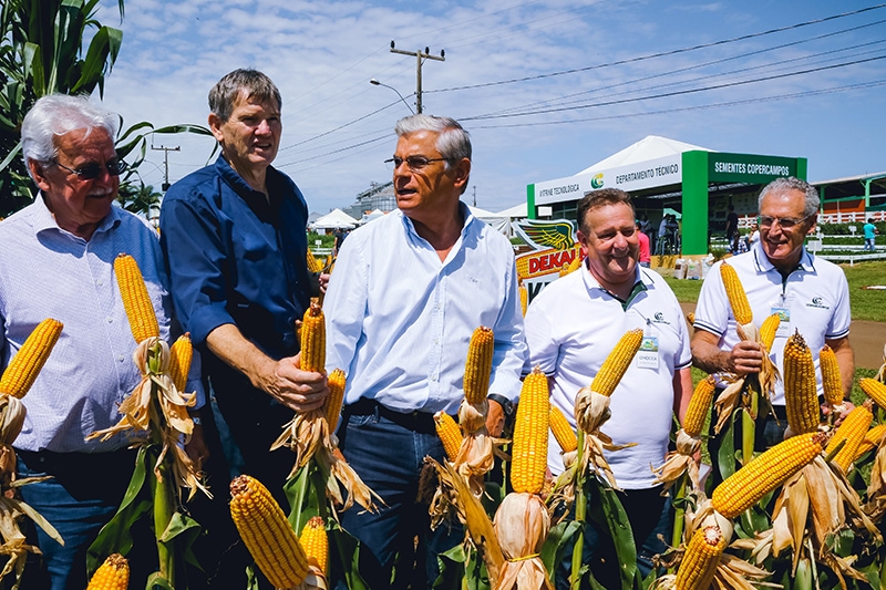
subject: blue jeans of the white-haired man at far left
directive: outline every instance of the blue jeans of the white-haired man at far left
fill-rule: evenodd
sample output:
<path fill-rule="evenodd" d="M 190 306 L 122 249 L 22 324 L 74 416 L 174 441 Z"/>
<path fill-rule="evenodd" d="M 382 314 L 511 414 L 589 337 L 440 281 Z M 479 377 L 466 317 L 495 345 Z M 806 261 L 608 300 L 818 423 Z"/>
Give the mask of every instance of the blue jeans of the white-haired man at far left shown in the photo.
<path fill-rule="evenodd" d="M 18 452 L 20 477 L 54 476 L 22 486 L 20 491 L 25 504 L 49 520 L 64 539 L 61 546 L 34 526 L 45 571 L 34 571 L 35 563 L 29 562 L 23 588 L 83 590 L 86 587 L 86 549 L 116 513 L 134 459 L 135 454 L 126 451 L 94 455 Z M 41 578 L 47 572 L 49 582 Z"/>

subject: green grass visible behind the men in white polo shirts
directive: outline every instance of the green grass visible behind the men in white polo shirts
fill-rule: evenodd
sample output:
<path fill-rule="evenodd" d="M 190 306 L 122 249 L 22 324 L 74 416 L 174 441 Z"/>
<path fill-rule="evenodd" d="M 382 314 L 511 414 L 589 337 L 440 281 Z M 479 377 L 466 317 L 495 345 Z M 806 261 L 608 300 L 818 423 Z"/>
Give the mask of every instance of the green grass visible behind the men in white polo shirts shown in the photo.
<path fill-rule="evenodd" d="M 886 322 L 886 291 L 866 290 L 868 284 L 886 284 L 886 261 L 841 265 L 849 283 L 849 304 L 853 320 Z M 702 281 L 678 280 L 666 277 L 678 301 L 696 303 Z"/>

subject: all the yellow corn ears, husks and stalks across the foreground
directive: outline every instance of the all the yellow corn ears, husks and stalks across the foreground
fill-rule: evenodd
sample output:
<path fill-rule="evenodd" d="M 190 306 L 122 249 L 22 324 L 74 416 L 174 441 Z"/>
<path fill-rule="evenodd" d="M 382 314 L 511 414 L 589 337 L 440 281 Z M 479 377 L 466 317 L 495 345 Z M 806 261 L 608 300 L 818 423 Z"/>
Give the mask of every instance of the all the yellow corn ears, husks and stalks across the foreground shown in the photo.
<path fill-rule="evenodd" d="M 318 270 L 331 266 L 313 262 Z M 728 263 L 721 270 L 739 335 L 769 350 L 779 317 L 753 318 L 734 270 Z M 189 536 L 184 532 L 199 526 L 188 516 L 187 501 L 197 493 L 208 494 L 181 445 L 194 426 L 187 414 L 194 395 L 184 392 L 190 342 L 183 337 L 168 346 L 158 338 L 144 281 L 131 257 L 122 255 L 115 261 L 115 273 L 138 343 L 134 360 L 144 377 L 121 405 L 120 423 L 92 436 L 144 434 L 133 483 L 148 488 L 152 501 L 136 507 L 124 499 L 91 548 L 94 575 L 89 588 L 127 588 L 125 553 L 132 542 L 126 529 L 138 518 L 150 519 L 156 534 L 158 570 L 146 583 L 183 588 L 176 582 L 188 555 Z M 17 498 L 14 489 L 29 480 L 16 479 L 14 458 L 9 457 L 14 457 L 11 443 L 24 420 L 20 398 L 62 330 L 55 320 L 42 322 L 0 379 L 0 535 L 9 555 L 2 577 L 19 578 L 24 557 L 33 550 L 21 532 L 25 518 L 58 538 L 50 522 Z M 617 386 L 641 337 L 640 330 L 627 332 L 591 383 L 577 392 L 577 431 L 550 406 L 547 377 L 534 370 L 524 381 L 513 432 L 499 438 L 485 426 L 494 334 L 477 327 L 465 351 L 457 422 L 443 413 L 434 416 L 447 458 L 442 464 L 427 459 L 436 475 L 431 520 L 433 526 L 457 522 L 465 531 L 463 544 L 440 556 L 442 572 L 435 588 L 536 590 L 554 588 L 558 581 L 576 589 L 602 588 L 583 562 L 586 527 L 595 521 L 612 537 L 625 590 L 879 589 L 886 582 L 882 536 L 886 365 L 875 379 L 861 380 L 868 398 L 835 426 L 834 416 L 847 410 L 836 356 L 827 346 L 820 352 L 825 391 L 825 404 L 820 405 L 812 351 L 800 333 L 789 339 L 783 366 L 770 362 L 759 375 L 746 377 L 721 374 L 729 386 L 719 396 L 712 376 L 699 381 L 676 432 L 674 451 L 661 465 L 650 466 L 669 494 L 674 519 L 663 539 L 668 549 L 656 556 L 657 569 L 641 576 L 606 458 L 607 453 L 618 452 L 606 435 L 609 400 L 620 394 Z M 300 339 L 302 369 L 323 371 L 324 318 L 319 301 L 306 311 Z M 792 436 L 755 453 L 754 418 L 766 411 L 779 379 L 785 384 Z M 256 567 L 276 588 L 324 589 L 338 581 L 365 588 L 356 566 L 359 546 L 338 526 L 337 514 L 353 504 L 378 510 L 383 503 L 337 449 L 332 431 L 344 384 L 342 371 L 329 374 L 331 394 L 326 404 L 296 415 L 272 446 L 293 453 L 285 489 L 289 515 L 261 482 L 244 475 L 230 484 L 234 524 Z M 708 424 L 723 439 L 718 454 L 722 483 L 712 489 L 699 479 L 698 464 Z M 562 448 L 565 468 L 556 480 L 546 473 L 549 431 Z M 491 477 L 493 470 L 504 474 L 503 485 L 493 483 L 497 479 Z M 564 573 L 560 563 L 571 568 Z M 133 580 L 134 588 L 144 583 Z"/>

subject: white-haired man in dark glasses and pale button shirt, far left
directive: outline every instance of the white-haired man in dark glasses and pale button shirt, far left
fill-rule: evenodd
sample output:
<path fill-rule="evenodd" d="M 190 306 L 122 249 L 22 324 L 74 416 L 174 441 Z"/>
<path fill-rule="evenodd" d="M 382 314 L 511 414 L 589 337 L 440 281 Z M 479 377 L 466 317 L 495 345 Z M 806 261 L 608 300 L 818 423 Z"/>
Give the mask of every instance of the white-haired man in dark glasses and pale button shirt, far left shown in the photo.
<path fill-rule="evenodd" d="M 85 588 L 86 548 L 114 515 L 133 473 L 132 441 L 86 441 L 120 420 L 120 403 L 140 383 L 113 262 L 125 252 L 145 278 L 161 334 L 169 341 L 172 300 L 157 232 L 113 201 L 120 174 L 117 116 L 83 96 L 37 101 L 22 123 L 22 152 L 40 189 L 34 203 L 0 222 L 0 369 L 45 318 L 64 324 L 31 391 L 13 443 L 20 477 L 51 476 L 21 496 L 52 524 L 62 547 L 38 529 L 45 571 L 25 569 L 24 587 Z M 188 391 L 199 389 L 199 380 Z M 203 403 L 202 401 L 199 402 Z M 206 456 L 199 428 L 188 452 Z M 136 578 L 156 566 L 137 568 Z M 147 569 L 150 567 L 150 569 Z M 144 578 L 142 578 L 144 580 Z"/>

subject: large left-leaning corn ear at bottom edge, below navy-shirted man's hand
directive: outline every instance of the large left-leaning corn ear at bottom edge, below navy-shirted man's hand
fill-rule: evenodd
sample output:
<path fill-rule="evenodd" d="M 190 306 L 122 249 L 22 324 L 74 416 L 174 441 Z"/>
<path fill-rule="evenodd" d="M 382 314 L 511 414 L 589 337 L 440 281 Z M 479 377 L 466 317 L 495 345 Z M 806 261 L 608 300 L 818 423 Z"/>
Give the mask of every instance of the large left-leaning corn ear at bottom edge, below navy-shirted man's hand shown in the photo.
<path fill-rule="evenodd" d="M 270 491 L 248 475 L 230 483 L 230 516 L 256 565 L 275 588 L 293 588 L 308 575 L 308 557 Z"/>

